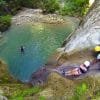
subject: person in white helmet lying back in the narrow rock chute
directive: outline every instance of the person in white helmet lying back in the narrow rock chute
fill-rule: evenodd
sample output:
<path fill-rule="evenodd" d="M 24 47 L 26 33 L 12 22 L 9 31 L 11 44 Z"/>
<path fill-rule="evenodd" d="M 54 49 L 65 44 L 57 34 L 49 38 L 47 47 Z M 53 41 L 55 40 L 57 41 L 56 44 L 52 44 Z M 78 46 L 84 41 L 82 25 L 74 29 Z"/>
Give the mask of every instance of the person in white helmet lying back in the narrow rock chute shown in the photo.
<path fill-rule="evenodd" d="M 86 73 L 89 70 L 90 65 L 91 64 L 89 61 L 85 61 L 79 67 L 69 70 L 69 71 L 65 72 L 64 74 L 65 74 L 65 76 L 79 76 L 81 74 Z"/>

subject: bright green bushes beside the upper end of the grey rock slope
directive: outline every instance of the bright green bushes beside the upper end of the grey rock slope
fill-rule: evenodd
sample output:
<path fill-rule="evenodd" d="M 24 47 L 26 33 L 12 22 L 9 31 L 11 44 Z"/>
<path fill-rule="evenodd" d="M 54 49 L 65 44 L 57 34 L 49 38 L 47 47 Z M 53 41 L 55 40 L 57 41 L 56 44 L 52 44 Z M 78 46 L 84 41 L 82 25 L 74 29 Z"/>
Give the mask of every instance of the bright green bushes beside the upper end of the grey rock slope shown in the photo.
<path fill-rule="evenodd" d="M 83 16 L 89 7 L 89 0 L 66 0 L 60 14 L 71 16 Z"/>

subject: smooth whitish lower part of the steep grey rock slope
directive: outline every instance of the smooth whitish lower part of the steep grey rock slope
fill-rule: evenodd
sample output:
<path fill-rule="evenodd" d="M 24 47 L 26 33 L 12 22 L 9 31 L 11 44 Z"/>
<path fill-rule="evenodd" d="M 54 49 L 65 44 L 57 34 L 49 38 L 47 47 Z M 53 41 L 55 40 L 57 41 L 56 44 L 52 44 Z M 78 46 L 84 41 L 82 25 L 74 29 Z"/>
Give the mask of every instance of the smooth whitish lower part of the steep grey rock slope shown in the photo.
<path fill-rule="evenodd" d="M 100 44 L 100 30 L 96 30 L 95 27 L 88 29 L 88 32 L 81 32 L 77 34 L 71 41 L 66 44 L 65 52 L 74 53 L 85 48 L 91 48 Z"/>

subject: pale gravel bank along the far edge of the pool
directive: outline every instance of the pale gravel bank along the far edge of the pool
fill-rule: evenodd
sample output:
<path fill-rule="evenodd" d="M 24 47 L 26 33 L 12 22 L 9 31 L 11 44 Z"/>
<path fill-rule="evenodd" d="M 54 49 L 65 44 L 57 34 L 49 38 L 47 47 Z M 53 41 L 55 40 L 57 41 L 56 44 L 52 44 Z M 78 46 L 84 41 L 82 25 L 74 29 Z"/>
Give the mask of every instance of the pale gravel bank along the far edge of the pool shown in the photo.
<path fill-rule="evenodd" d="M 22 25 L 27 23 L 64 23 L 64 18 L 57 14 L 42 14 L 41 9 L 24 8 L 12 18 L 12 25 Z"/>

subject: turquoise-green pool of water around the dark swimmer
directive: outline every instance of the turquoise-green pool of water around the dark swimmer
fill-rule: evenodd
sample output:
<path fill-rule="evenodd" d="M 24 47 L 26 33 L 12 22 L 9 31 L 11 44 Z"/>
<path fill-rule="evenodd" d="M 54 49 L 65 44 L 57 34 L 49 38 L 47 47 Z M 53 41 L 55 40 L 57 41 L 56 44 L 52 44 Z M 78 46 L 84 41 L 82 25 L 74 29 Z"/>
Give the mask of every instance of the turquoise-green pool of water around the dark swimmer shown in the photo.
<path fill-rule="evenodd" d="M 12 26 L 0 42 L 0 58 L 8 64 L 11 75 L 28 81 L 49 56 L 61 46 L 72 31 L 72 24 L 43 24 Z M 20 53 L 20 46 L 25 53 Z"/>

